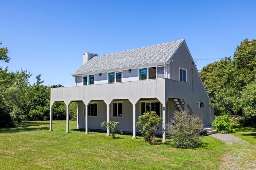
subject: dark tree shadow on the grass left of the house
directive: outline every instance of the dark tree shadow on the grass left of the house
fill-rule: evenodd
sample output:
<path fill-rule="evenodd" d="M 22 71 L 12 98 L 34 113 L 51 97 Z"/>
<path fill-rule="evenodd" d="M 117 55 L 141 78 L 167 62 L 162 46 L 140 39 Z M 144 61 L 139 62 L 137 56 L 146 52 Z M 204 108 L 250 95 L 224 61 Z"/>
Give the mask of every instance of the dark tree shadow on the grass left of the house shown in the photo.
<path fill-rule="evenodd" d="M 34 127 L 41 125 L 49 125 L 49 122 L 38 122 L 38 121 L 25 121 L 18 124 L 18 127 L 5 127 L 0 128 L 0 133 L 18 133 L 24 131 L 43 131 L 48 130 L 49 127 Z"/>

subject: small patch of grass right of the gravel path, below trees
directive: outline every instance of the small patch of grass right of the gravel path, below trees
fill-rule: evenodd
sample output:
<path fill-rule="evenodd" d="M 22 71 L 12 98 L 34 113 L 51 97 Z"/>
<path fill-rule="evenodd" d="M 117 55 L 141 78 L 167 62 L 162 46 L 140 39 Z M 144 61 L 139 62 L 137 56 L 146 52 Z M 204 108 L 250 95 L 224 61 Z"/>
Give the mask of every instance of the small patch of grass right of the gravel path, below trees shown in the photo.
<path fill-rule="evenodd" d="M 256 128 L 244 127 L 242 125 L 234 125 L 234 127 L 236 129 L 236 133 L 233 133 L 232 135 L 256 146 Z"/>

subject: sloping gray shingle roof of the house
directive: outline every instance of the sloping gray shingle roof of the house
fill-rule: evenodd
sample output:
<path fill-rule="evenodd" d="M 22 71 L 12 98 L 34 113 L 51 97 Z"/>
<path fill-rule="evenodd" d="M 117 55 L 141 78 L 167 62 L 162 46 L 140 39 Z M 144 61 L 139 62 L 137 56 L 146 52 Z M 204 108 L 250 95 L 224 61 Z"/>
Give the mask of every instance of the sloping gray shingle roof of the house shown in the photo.
<path fill-rule="evenodd" d="M 184 39 L 102 56 L 94 56 L 72 75 L 167 62 Z"/>

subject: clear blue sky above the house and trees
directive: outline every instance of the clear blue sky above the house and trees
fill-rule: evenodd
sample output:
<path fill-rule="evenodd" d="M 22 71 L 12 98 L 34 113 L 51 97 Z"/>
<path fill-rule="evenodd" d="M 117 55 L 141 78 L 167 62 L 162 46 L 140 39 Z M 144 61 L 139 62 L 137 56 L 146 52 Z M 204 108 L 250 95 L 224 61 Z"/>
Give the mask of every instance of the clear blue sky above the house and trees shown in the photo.
<path fill-rule="evenodd" d="M 0 40 L 10 71 L 73 86 L 82 53 L 99 55 L 185 39 L 193 58 L 233 56 L 256 38 L 256 1 L 2 1 Z M 199 60 L 197 68 L 214 60 Z"/>

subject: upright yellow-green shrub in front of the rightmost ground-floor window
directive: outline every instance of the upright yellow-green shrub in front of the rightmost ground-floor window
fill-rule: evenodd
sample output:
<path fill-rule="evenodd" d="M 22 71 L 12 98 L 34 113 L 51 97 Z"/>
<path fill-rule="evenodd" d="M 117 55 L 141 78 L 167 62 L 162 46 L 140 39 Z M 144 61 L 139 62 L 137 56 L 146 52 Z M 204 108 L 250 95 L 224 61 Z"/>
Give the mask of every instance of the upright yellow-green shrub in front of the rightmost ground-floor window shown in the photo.
<path fill-rule="evenodd" d="M 139 117 L 136 125 L 140 128 L 144 141 L 149 142 L 149 144 L 155 144 L 155 133 L 162 121 L 162 117 L 159 117 L 155 111 L 144 113 Z"/>

